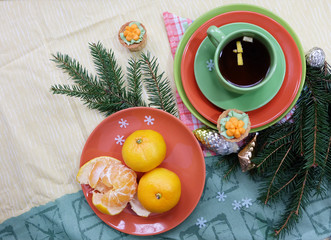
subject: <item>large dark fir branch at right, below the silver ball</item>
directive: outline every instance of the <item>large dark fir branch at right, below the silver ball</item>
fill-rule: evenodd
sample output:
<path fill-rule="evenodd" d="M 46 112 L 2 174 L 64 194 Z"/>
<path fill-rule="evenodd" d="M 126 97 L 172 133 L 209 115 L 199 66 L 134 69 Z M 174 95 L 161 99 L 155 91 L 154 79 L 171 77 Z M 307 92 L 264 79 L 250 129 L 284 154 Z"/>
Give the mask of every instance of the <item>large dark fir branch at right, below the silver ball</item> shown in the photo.
<path fill-rule="evenodd" d="M 275 225 L 277 236 L 288 233 L 300 219 L 300 209 L 314 194 L 326 193 L 331 178 L 330 162 L 330 66 L 307 67 L 306 83 L 291 122 L 275 124 L 259 134 L 258 154 L 250 171 L 262 179 L 261 201 L 287 204 Z M 325 74 L 327 72 L 327 74 Z"/>

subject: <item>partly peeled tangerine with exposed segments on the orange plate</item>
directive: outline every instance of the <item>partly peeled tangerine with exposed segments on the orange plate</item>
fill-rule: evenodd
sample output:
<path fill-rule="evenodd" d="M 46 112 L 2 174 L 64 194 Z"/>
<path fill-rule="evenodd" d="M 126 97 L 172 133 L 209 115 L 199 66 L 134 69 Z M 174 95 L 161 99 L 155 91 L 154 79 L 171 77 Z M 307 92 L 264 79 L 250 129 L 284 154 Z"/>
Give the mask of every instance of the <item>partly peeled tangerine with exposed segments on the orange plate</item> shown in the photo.
<path fill-rule="evenodd" d="M 137 191 L 136 173 L 112 157 L 98 157 L 78 171 L 77 181 L 93 188 L 92 203 L 106 214 L 120 213 Z"/>

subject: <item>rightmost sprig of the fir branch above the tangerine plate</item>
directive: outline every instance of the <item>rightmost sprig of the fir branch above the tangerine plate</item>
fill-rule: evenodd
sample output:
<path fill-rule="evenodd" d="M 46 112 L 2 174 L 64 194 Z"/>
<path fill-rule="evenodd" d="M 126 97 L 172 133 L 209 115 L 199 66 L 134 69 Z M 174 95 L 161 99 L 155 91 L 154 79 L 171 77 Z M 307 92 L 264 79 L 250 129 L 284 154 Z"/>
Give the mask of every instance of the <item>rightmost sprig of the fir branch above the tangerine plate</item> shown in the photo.
<path fill-rule="evenodd" d="M 150 106 L 160 107 L 177 116 L 175 97 L 168 80 L 163 78 L 164 73 L 158 73 L 159 64 L 156 58 L 151 58 L 149 52 L 142 53 L 141 66 L 144 71 L 146 91 L 149 94 L 148 100 L 151 102 Z"/>

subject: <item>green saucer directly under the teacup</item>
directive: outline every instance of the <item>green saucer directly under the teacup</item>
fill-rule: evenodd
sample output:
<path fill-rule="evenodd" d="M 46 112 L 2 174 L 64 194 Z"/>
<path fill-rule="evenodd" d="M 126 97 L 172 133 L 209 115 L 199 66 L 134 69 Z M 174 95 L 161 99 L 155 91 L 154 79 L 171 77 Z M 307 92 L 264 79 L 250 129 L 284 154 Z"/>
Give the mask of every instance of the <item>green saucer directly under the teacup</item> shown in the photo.
<path fill-rule="evenodd" d="M 247 112 L 262 107 L 277 94 L 285 77 L 286 62 L 284 53 L 277 40 L 270 33 L 256 25 L 247 23 L 232 23 L 220 27 L 225 34 L 245 28 L 263 33 L 275 46 L 277 53 L 275 72 L 269 82 L 254 92 L 236 94 L 226 90 L 218 80 L 215 70 L 215 67 L 218 66 L 213 67 L 216 47 L 206 37 L 195 56 L 194 74 L 203 95 L 211 103 L 222 109 L 235 108 Z"/>

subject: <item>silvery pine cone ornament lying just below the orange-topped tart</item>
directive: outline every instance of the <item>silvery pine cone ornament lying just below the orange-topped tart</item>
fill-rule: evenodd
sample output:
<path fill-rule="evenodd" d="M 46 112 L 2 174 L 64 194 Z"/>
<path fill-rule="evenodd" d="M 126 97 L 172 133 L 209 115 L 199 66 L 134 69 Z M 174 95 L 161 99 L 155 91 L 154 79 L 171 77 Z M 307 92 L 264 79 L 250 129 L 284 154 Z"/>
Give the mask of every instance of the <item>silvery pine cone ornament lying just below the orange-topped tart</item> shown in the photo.
<path fill-rule="evenodd" d="M 198 128 L 193 131 L 193 134 L 203 146 L 216 154 L 229 155 L 239 151 L 237 143 L 224 140 L 217 130 Z"/>

